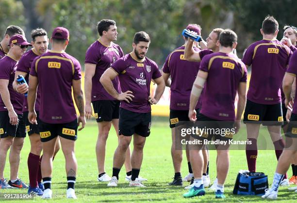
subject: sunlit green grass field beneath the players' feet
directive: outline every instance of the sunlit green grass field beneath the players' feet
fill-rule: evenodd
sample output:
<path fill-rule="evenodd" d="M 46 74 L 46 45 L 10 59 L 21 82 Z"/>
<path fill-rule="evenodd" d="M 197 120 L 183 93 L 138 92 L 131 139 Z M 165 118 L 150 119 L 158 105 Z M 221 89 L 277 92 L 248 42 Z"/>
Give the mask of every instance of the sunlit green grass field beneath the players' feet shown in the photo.
<path fill-rule="evenodd" d="M 156 120 L 156 118 L 154 118 Z M 242 126 L 242 132 L 245 132 Z M 128 183 L 124 181 L 125 169 L 122 168 L 119 176 L 119 185 L 116 188 L 108 188 L 106 183 L 99 183 L 97 181 L 98 170 L 95 155 L 95 145 L 97 139 L 97 124 L 94 121 L 89 121 L 86 128 L 78 135 L 76 141 L 76 157 L 78 160 L 78 172 L 76 183 L 76 195 L 78 200 L 76 202 L 241 202 L 241 203 L 255 203 L 267 202 L 263 201 L 258 196 L 235 196 L 232 194 L 236 175 L 240 169 L 247 169 L 247 161 L 244 150 L 231 151 L 231 167 L 225 184 L 226 200 L 217 200 L 214 198 L 214 192 L 206 191 L 203 197 L 194 197 L 185 199 L 182 194 L 186 192 L 183 187 L 168 186 L 172 181 L 174 170 L 172 166 L 170 147 L 171 147 L 171 131 L 168 127 L 167 121 L 157 120 L 152 122 L 151 135 L 148 137 L 145 149 L 144 159 L 140 175 L 148 179 L 144 182 L 147 188 L 131 188 Z M 268 135 L 268 134 L 267 134 Z M 112 161 L 115 148 L 117 146 L 117 138 L 114 129 L 112 129 L 106 151 L 106 172 L 112 175 Z M 19 170 L 19 177 L 26 183 L 29 182 L 27 157 L 30 150 L 29 138 L 25 138 L 24 148 L 21 152 L 21 164 Z M 210 152 L 210 177 L 213 181 L 215 178 L 215 151 Z M 274 151 L 259 151 L 257 159 L 257 171 L 265 172 L 269 178 L 269 185 L 272 183 L 273 174 L 276 169 L 277 160 Z M 187 162 L 184 154 L 182 169 L 182 176 L 188 173 Z M 6 161 L 4 175 L 9 177 L 9 162 Z M 289 176 L 291 176 L 291 169 L 289 169 Z M 185 186 L 188 184 L 186 183 Z M 49 202 L 72 202 L 75 200 L 66 199 L 66 172 L 65 160 L 62 152 L 58 152 L 53 162 L 52 175 L 52 191 L 53 199 Z M 27 190 L 0 190 L 0 193 L 26 193 Z M 293 203 L 297 202 L 297 193 L 289 192 L 286 187 L 281 187 L 279 198 L 274 202 Z M 42 201 L 36 197 L 32 202 Z M 31 202 L 26 201 L 26 202 Z M 0 202 L 5 202 L 0 200 Z M 7 201 L 11 202 L 11 201 Z"/>

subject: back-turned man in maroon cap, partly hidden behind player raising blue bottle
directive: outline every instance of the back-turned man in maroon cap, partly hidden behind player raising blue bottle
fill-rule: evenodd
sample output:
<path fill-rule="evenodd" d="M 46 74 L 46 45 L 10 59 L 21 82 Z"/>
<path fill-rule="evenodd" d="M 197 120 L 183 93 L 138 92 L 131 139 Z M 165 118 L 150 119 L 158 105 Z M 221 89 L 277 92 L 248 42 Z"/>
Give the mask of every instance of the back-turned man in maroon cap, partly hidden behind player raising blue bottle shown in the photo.
<path fill-rule="evenodd" d="M 200 26 L 197 24 L 189 24 L 186 29 L 196 32 L 200 35 Z M 181 178 L 181 161 L 182 161 L 182 151 L 177 150 L 175 143 L 176 141 L 176 125 L 180 121 L 189 121 L 188 109 L 191 87 L 195 81 L 196 75 L 198 73 L 199 64 L 197 62 L 189 62 L 184 58 L 184 49 L 188 41 L 188 37 L 183 36 L 184 44 L 172 51 L 166 58 L 163 65 L 162 76 L 164 78 L 166 86 L 170 87 L 170 116 L 169 116 L 169 127 L 171 128 L 171 156 L 174 167 L 174 179 L 170 186 L 182 186 L 182 182 L 191 181 L 193 177 L 193 171 L 191 168 L 191 163 L 188 161 L 189 174 L 184 178 Z M 197 48 L 197 42 L 194 42 L 195 51 L 199 52 Z M 187 73 L 186 75 L 184 73 Z M 169 77 L 171 76 L 171 80 Z M 198 111 L 198 108 L 196 108 Z M 187 160 L 189 160 L 188 148 L 186 148 Z M 206 176 L 206 175 L 205 175 Z"/>

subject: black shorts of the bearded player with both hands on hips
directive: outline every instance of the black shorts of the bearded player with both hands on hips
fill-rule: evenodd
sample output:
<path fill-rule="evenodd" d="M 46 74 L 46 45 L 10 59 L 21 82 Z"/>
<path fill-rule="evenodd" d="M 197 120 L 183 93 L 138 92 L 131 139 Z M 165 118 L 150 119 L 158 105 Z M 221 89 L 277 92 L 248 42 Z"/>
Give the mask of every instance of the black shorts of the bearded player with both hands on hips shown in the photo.
<path fill-rule="evenodd" d="M 134 133 L 147 137 L 150 134 L 151 112 L 138 113 L 119 108 L 118 135 L 132 136 Z"/>

